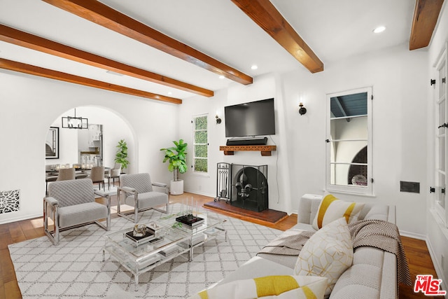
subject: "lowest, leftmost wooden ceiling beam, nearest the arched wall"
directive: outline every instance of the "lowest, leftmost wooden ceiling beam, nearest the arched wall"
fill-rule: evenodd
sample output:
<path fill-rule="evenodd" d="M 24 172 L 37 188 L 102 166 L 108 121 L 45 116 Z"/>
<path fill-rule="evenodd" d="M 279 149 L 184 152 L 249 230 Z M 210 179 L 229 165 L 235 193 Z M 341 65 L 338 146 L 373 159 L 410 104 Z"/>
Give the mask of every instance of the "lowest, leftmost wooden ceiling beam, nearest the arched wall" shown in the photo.
<path fill-rule="evenodd" d="M 89 86 L 91 88 L 99 88 L 102 90 L 109 90 L 113 92 L 120 92 L 126 95 L 134 95 L 137 97 L 146 97 L 147 99 L 156 99 L 162 102 L 169 102 L 173 104 L 182 104 L 181 99 L 174 97 L 165 97 L 164 95 L 158 95 L 152 92 L 146 92 L 143 90 L 136 90 L 133 88 L 127 88 L 121 85 L 114 85 L 102 81 L 93 80 L 90 78 L 75 76 L 71 74 L 62 73 L 61 71 L 54 71 L 52 69 L 44 69 L 42 67 L 36 67 L 31 64 L 25 64 L 22 62 L 15 62 L 13 60 L 6 60 L 0 58 L 0 69 L 8 69 L 10 71 L 18 71 L 20 73 L 41 76 L 45 78 L 55 79 L 59 81 L 75 83 L 79 85 Z"/>

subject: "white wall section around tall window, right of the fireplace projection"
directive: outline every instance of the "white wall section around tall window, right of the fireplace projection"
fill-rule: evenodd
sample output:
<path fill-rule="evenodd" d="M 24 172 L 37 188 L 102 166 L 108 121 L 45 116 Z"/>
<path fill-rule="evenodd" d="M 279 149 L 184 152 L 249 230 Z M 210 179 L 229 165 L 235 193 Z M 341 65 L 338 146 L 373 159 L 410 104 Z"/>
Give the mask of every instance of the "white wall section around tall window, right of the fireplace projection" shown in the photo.
<path fill-rule="evenodd" d="M 426 220 L 426 52 L 409 51 L 407 45 L 325 64 L 325 71 L 283 74 L 289 137 L 290 186 L 293 209 L 304 193 L 322 194 L 325 188 L 325 94 L 372 86 L 372 163 L 374 197 L 339 195 L 346 200 L 378 202 L 397 207 L 402 233 L 424 237 Z M 302 98 L 302 100 L 300 100 Z M 304 102 L 307 114 L 297 113 Z M 421 193 L 400 193 L 400 180 L 421 183 Z"/>

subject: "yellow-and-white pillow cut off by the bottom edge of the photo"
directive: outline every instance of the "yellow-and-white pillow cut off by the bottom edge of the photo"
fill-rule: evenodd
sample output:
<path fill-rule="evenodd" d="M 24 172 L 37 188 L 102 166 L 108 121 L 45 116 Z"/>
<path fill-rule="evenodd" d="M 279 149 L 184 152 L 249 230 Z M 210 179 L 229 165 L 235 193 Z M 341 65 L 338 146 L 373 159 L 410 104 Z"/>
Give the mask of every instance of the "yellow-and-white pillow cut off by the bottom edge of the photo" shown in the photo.
<path fill-rule="evenodd" d="M 323 299 L 327 279 L 311 276 L 266 276 L 241 279 L 201 291 L 188 299 Z"/>

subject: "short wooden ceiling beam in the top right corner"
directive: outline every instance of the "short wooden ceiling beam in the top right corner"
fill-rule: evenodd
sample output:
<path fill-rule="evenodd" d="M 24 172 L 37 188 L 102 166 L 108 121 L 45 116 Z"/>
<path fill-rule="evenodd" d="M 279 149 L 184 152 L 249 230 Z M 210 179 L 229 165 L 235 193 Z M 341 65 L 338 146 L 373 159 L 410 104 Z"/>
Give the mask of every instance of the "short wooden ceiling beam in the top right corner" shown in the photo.
<path fill-rule="evenodd" d="M 429 45 L 442 9 L 443 0 L 416 0 L 409 50 Z"/>

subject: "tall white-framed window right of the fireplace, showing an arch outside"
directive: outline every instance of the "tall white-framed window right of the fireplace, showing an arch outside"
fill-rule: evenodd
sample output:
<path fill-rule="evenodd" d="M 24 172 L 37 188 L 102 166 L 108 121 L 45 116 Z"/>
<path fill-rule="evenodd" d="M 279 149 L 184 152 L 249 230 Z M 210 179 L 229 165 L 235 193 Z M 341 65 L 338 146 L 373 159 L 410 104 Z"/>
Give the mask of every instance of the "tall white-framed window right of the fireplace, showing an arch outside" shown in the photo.
<path fill-rule="evenodd" d="M 372 195 L 372 88 L 327 95 L 326 189 Z"/>

